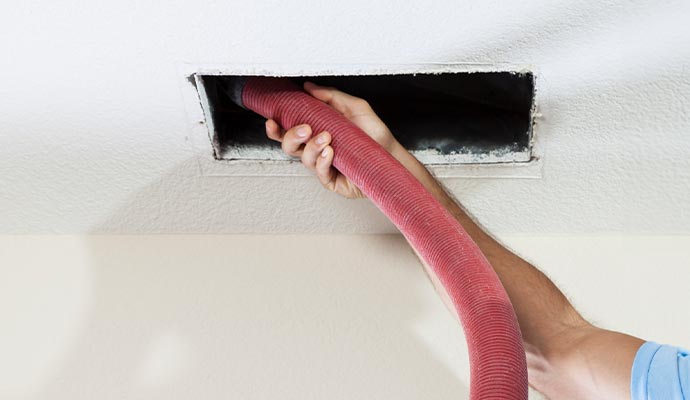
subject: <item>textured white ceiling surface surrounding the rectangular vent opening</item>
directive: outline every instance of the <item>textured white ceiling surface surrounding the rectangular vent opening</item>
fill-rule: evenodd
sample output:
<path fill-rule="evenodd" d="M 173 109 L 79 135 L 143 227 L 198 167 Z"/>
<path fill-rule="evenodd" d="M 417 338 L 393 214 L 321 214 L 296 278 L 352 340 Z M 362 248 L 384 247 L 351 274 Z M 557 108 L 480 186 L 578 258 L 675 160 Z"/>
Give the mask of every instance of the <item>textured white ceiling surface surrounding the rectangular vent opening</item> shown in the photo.
<path fill-rule="evenodd" d="M 538 74 L 542 178 L 446 181 L 494 231 L 690 233 L 689 18 L 686 0 L 15 2 L 0 230 L 390 232 L 308 177 L 201 176 L 179 66 L 452 61 Z"/>

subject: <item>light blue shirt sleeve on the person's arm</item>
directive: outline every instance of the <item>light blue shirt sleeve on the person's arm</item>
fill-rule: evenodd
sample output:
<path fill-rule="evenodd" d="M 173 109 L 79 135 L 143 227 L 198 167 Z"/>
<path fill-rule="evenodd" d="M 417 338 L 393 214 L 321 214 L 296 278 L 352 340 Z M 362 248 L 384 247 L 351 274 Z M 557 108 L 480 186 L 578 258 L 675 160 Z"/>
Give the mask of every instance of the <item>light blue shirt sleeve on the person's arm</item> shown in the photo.
<path fill-rule="evenodd" d="M 633 400 L 690 400 L 690 353 L 646 342 L 635 355 L 630 391 Z"/>

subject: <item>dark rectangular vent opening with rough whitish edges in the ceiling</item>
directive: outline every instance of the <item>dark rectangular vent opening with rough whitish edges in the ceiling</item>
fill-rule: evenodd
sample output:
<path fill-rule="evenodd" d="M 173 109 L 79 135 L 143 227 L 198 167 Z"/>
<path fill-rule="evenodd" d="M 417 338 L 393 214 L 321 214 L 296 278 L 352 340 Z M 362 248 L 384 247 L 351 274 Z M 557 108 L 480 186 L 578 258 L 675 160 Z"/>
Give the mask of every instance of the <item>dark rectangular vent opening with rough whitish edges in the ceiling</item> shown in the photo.
<path fill-rule="evenodd" d="M 197 83 L 217 160 L 288 161 L 265 135 L 265 119 L 235 105 L 224 81 Z M 400 143 L 427 165 L 531 159 L 534 75 L 530 72 L 300 76 L 366 99 Z"/>

